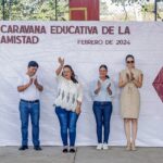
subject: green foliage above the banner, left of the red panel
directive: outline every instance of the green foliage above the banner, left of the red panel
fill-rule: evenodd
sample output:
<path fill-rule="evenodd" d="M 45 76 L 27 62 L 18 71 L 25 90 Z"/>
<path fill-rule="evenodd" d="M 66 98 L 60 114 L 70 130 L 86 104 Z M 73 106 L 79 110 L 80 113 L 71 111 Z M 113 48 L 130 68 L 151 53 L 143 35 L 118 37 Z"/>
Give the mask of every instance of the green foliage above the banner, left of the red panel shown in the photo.
<path fill-rule="evenodd" d="M 68 13 L 67 2 L 68 0 L 5 0 L 5 20 L 53 21 L 57 17 L 60 20 Z M 58 15 L 55 15 L 55 10 Z M 2 5 L 0 5 L 0 18 L 2 18 Z"/>

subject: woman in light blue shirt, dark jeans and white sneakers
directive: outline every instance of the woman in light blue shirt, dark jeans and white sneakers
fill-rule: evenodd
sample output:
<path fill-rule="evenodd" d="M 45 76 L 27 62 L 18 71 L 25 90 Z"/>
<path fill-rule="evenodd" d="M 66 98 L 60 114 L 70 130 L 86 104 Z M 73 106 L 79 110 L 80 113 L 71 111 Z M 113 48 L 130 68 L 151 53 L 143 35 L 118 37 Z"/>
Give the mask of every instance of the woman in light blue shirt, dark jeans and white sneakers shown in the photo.
<path fill-rule="evenodd" d="M 110 120 L 112 115 L 112 98 L 114 96 L 114 84 L 108 76 L 108 66 L 102 64 L 99 67 L 99 78 L 92 83 L 92 110 L 97 123 L 97 149 L 109 149 Z M 103 139 L 102 139 L 102 127 Z"/>

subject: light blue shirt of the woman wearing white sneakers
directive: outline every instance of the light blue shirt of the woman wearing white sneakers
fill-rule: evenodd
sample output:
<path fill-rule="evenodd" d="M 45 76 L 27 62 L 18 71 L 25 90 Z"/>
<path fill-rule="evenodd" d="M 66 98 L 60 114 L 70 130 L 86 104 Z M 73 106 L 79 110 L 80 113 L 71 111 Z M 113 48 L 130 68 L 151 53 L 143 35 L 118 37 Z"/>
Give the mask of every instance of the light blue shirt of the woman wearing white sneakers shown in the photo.
<path fill-rule="evenodd" d="M 98 80 L 100 80 L 100 83 L 101 83 L 101 89 L 100 89 L 99 93 L 96 95 L 95 90 L 98 87 L 98 85 L 97 85 Z M 111 85 L 110 88 L 112 90 L 112 95 L 109 95 L 109 92 L 106 90 L 109 85 Z M 104 82 L 99 78 L 99 79 L 92 82 L 90 87 L 91 87 L 91 95 L 92 95 L 93 101 L 100 101 L 100 102 L 110 101 L 111 102 L 113 97 L 115 96 L 115 87 L 114 87 L 113 82 L 110 78 L 106 78 Z"/>

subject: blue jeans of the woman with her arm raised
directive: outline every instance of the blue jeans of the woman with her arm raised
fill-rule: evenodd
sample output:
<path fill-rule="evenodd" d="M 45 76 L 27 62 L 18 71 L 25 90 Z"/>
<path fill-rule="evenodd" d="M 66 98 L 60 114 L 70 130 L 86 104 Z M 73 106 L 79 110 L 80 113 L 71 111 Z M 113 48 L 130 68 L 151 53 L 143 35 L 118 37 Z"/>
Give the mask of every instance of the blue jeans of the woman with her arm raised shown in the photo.
<path fill-rule="evenodd" d="M 68 146 L 67 136 L 70 135 L 70 146 L 74 147 L 76 139 L 76 123 L 78 120 L 78 114 L 72 111 L 66 111 L 61 106 L 55 106 L 55 113 L 60 122 L 61 138 L 63 146 Z"/>

